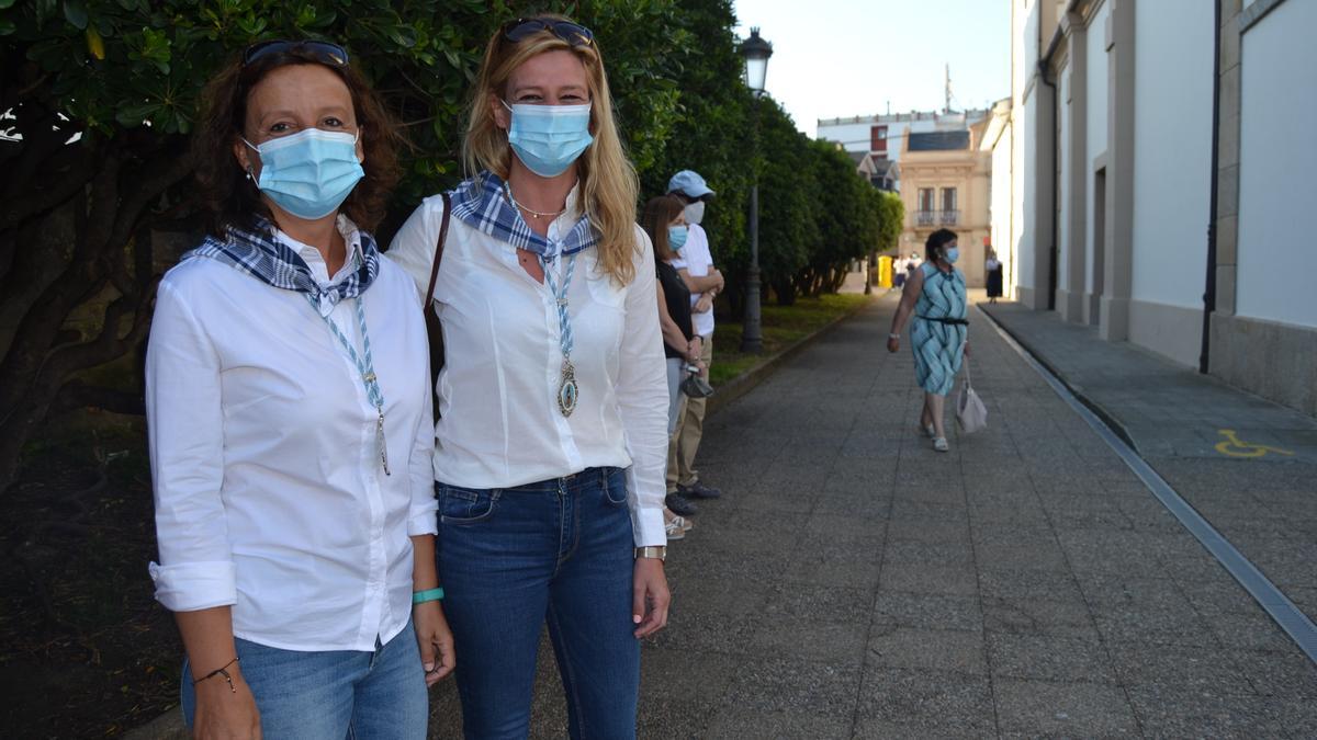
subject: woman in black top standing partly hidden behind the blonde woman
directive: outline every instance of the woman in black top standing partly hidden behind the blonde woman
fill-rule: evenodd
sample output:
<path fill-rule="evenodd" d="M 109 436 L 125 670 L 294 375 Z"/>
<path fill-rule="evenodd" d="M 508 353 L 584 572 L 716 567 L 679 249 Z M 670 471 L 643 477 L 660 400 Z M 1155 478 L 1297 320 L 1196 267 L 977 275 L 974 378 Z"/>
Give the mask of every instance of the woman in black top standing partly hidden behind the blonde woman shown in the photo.
<path fill-rule="evenodd" d="M 703 371 L 701 361 L 702 338 L 695 333 L 690 312 L 690 288 L 677 274 L 672 262 L 689 238 L 685 217 L 685 204 L 672 196 L 660 195 L 645 204 L 640 223 L 655 245 L 655 269 L 658 275 L 658 320 L 662 325 L 664 357 L 668 365 L 668 437 L 677 433 L 677 421 L 686 410 L 687 396 L 681 392 L 681 381 L 686 367 L 694 366 Z M 670 462 L 670 460 L 669 460 Z M 670 473 L 670 471 L 669 471 Z M 693 524 L 665 507 L 668 539 L 685 537 Z"/>

